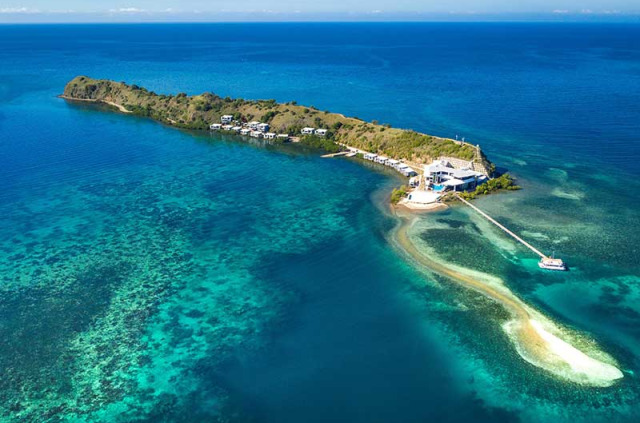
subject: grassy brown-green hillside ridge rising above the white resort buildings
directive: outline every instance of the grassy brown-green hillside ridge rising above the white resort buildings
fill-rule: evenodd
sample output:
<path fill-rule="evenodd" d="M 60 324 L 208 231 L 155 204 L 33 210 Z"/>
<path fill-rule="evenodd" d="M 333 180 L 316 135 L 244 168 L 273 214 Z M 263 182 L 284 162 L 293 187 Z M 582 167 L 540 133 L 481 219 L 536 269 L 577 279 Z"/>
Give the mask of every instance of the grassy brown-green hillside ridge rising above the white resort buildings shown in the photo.
<path fill-rule="evenodd" d="M 222 98 L 213 93 L 188 96 L 156 94 L 137 85 L 77 76 L 65 87 L 62 98 L 110 104 L 120 111 L 146 116 L 168 125 L 206 130 L 222 115 L 233 115 L 239 121 L 269 123 L 271 130 L 290 135 L 300 134 L 303 127 L 326 128 L 327 140 L 337 145 L 384 154 L 409 163 L 430 163 L 439 157 L 473 162 L 476 170 L 489 174 L 493 165 L 478 146 L 421 134 L 412 130 L 391 128 L 376 121 L 365 122 L 338 113 L 320 111 L 295 102 Z"/>

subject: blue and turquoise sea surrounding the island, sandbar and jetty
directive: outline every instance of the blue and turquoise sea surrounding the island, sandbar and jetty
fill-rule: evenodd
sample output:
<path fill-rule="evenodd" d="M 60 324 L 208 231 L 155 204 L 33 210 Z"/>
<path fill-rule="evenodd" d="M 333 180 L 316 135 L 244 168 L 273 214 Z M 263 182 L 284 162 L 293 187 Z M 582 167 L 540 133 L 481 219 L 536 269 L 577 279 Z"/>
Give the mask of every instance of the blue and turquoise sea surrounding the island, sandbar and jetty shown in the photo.
<path fill-rule="evenodd" d="M 480 144 L 524 189 L 477 205 L 571 271 L 462 207 L 412 236 L 624 378 L 545 373 L 407 261 L 396 175 L 57 98 L 77 75 Z M 0 420 L 639 421 L 639 134 L 634 24 L 0 25 Z"/>

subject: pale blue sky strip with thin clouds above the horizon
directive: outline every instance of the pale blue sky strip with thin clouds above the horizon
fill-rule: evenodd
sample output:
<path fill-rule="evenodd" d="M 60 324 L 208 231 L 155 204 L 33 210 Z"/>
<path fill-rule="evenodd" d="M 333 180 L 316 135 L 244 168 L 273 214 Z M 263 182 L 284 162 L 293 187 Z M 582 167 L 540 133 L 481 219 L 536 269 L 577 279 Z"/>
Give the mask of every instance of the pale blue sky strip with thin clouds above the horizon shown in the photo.
<path fill-rule="evenodd" d="M 640 0 L 0 0 L 0 22 L 611 20 Z"/>

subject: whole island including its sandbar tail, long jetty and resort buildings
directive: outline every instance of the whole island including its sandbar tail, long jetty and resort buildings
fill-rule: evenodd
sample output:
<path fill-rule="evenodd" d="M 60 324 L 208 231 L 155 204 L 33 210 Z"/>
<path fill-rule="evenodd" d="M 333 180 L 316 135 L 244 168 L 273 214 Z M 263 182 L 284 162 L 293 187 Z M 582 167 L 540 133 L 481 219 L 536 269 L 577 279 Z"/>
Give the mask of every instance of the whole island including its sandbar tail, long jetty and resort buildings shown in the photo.
<path fill-rule="evenodd" d="M 495 166 L 479 146 L 412 130 L 364 122 L 313 107 L 275 100 L 221 98 L 212 93 L 159 95 L 136 85 L 79 76 L 65 87 L 62 98 L 103 103 L 123 113 L 152 118 L 178 128 L 226 131 L 268 142 L 295 142 L 325 150 L 325 156 L 360 156 L 388 166 L 409 178 L 391 194 L 391 201 L 409 209 L 442 207 L 460 201 L 541 257 L 539 266 L 566 270 L 562 260 L 547 257 L 467 200 L 498 190 L 518 189 L 508 174 L 495 175 Z M 415 218 L 415 215 L 413 216 Z M 421 254 L 411 242 L 411 219 L 401 216 L 394 230 L 396 243 L 407 256 L 459 285 L 495 301 L 510 315 L 503 330 L 529 363 L 574 383 L 606 387 L 623 377 L 613 358 L 591 348 L 572 345 L 574 338 L 518 298 L 500 283 L 486 283 Z"/>

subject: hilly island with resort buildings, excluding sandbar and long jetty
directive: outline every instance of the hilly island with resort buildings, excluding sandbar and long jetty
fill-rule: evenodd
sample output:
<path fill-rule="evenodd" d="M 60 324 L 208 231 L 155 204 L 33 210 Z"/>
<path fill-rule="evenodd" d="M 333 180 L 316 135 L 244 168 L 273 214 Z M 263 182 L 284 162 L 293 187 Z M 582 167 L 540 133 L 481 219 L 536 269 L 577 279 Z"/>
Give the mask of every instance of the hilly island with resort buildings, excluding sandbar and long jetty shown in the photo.
<path fill-rule="evenodd" d="M 391 196 L 392 203 L 410 209 L 430 209 L 457 198 L 447 192 L 463 192 L 472 199 L 518 188 L 509 175 L 492 179 L 495 165 L 479 145 L 365 122 L 295 101 L 233 99 L 213 93 L 164 95 L 86 76 L 67 83 L 60 97 L 106 104 L 177 128 L 235 133 L 271 143 L 295 142 L 322 149 L 328 156 L 357 155 L 410 178 Z"/>

